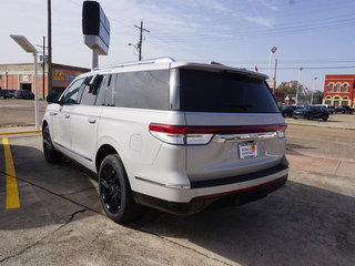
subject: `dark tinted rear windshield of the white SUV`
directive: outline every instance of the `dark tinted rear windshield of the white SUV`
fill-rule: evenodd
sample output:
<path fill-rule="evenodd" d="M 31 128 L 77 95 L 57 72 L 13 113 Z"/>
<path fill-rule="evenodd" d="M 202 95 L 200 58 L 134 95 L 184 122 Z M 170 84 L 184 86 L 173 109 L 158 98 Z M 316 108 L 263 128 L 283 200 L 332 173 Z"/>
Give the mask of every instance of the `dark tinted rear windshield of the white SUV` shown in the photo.
<path fill-rule="evenodd" d="M 231 72 L 180 69 L 180 110 L 190 112 L 278 113 L 265 81 Z"/>

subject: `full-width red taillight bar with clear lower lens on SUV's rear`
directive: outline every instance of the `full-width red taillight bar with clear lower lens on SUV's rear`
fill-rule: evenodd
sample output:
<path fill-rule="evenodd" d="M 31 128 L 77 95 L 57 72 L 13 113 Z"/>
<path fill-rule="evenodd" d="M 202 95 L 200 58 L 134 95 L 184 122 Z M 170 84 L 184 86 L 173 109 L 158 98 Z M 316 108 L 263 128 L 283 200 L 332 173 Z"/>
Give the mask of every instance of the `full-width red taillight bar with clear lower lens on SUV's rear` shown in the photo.
<path fill-rule="evenodd" d="M 284 131 L 286 124 L 271 125 L 236 125 L 236 126 L 205 126 L 205 125 L 170 125 L 151 123 L 149 130 L 156 139 L 171 144 L 207 144 L 214 134 L 244 134 Z"/>

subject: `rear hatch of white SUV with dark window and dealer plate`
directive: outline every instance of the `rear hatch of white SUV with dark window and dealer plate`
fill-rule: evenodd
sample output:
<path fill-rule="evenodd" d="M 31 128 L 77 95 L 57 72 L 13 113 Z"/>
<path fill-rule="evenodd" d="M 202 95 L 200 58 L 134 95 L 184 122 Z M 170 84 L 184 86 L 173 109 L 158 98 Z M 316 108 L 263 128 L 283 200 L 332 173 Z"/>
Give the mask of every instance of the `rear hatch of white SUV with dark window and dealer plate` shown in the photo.
<path fill-rule="evenodd" d="M 277 167 L 286 125 L 266 76 L 231 69 L 174 69 L 186 119 L 186 172 L 192 183 Z"/>

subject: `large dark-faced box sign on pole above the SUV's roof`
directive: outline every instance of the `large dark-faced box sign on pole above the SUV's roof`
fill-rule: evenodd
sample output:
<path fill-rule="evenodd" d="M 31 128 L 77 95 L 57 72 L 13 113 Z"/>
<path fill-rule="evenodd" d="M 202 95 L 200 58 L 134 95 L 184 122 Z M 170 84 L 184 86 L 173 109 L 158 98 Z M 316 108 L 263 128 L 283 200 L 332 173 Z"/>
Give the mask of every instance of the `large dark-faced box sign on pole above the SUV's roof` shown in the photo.
<path fill-rule="evenodd" d="M 84 43 L 92 49 L 92 68 L 99 65 L 99 54 L 108 55 L 110 47 L 110 21 L 97 1 L 82 6 L 82 33 Z"/>

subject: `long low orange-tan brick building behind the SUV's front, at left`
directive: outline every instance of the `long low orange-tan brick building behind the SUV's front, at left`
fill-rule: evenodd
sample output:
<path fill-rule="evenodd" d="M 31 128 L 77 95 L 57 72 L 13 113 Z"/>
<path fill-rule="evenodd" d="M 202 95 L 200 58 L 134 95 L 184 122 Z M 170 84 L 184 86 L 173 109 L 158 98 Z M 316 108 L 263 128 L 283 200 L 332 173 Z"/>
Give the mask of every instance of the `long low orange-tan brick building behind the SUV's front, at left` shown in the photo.
<path fill-rule="evenodd" d="M 69 83 L 79 74 L 90 69 L 78 68 L 64 64 L 52 64 L 52 92 L 60 95 Z M 29 90 L 34 93 L 33 63 L 0 64 L 0 86 L 2 89 Z M 43 91 L 44 81 L 44 91 Z M 39 98 L 48 94 L 48 64 L 38 64 L 38 92 Z"/>

